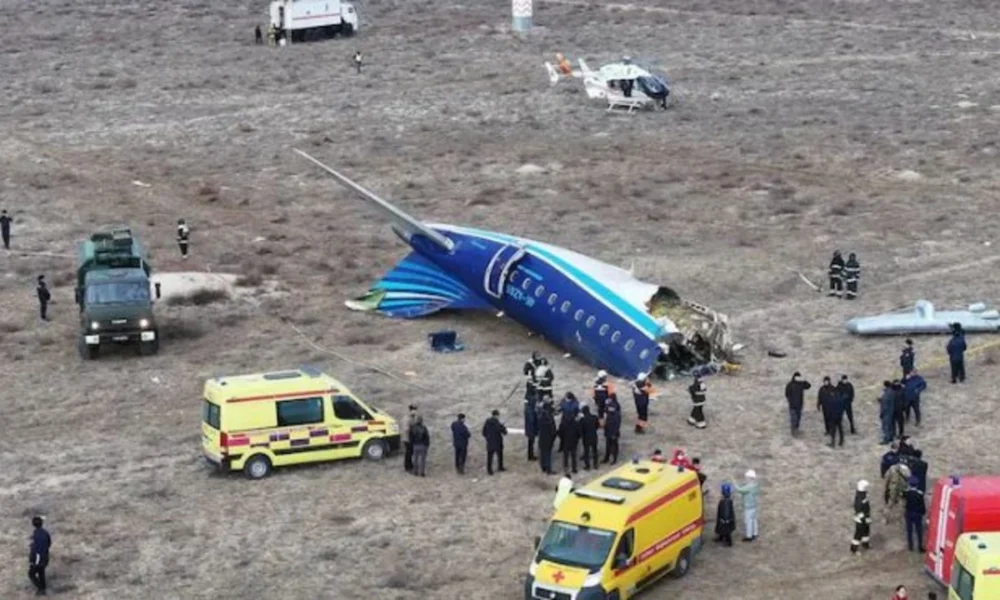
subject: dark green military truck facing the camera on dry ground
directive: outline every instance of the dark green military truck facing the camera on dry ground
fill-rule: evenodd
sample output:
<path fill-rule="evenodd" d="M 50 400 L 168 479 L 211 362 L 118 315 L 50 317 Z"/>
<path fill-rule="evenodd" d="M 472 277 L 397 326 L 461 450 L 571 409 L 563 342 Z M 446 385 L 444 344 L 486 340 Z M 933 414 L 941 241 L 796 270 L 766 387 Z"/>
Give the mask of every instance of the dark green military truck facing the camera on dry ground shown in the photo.
<path fill-rule="evenodd" d="M 80 354 L 95 359 L 102 345 L 137 344 L 143 356 L 160 347 L 153 316 L 152 267 L 126 226 L 107 228 L 77 249 L 76 303 L 80 305 Z M 160 286 L 156 284 L 156 298 Z"/>

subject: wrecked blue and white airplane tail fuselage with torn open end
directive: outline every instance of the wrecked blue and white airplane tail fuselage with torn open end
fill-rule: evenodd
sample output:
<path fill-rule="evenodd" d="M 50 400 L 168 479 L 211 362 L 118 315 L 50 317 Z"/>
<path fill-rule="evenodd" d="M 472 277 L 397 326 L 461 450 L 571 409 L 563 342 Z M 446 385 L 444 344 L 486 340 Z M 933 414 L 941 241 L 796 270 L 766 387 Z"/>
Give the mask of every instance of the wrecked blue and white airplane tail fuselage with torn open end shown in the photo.
<path fill-rule="evenodd" d="M 413 248 L 364 297 L 348 301 L 349 308 L 399 318 L 444 309 L 499 310 L 617 377 L 651 372 L 664 359 L 676 370 L 732 360 L 725 316 L 668 288 L 558 246 L 425 224 L 300 154 L 378 207 Z"/>

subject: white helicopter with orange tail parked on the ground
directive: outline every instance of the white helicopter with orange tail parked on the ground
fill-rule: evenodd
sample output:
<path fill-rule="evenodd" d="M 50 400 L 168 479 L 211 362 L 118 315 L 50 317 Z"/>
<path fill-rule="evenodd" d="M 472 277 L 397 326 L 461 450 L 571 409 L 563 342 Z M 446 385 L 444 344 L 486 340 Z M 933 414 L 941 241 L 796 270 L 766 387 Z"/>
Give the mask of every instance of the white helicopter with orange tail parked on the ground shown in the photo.
<path fill-rule="evenodd" d="M 580 69 L 574 71 L 562 54 L 557 54 L 558 67 L 546 62 L 552 85 L 562 77 L 583 78 L 583 87 L 589 98 L 601 98 L 608 101 L 608 110 L 627 108 L 632 112 L 636 108 L 658 103 L 667 108 L 667 98 L 670 96 L 670 84 L 662 75 L 632 62 L 624 57 L 619 62 L 609 63 L 598 69 L 591 70 L 583 59 L 579 59 Z"/>

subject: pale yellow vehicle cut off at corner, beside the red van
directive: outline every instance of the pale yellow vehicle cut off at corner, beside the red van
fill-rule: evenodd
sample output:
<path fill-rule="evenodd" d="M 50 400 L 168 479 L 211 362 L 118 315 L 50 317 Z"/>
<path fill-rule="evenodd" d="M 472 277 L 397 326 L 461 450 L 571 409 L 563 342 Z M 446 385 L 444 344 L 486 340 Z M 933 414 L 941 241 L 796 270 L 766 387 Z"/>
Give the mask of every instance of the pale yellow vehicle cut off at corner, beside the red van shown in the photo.
<path fill-rule="evenodd" d="M 958 537 L 948 598 L 1000 598 L 1000 532 L 963 533 Z"/>

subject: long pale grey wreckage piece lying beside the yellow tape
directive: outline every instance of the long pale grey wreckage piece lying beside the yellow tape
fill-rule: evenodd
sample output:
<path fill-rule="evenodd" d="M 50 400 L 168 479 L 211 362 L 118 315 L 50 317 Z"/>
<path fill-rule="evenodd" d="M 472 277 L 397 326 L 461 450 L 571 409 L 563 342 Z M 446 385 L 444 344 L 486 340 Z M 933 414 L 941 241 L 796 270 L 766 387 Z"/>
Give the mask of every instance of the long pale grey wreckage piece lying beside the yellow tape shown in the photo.
<path fill-rule="evenodd" d="M 970 305 L 967 310 L 936 311 L 927 300 L 919 300 L 913 310 L 857 317 L 845 327 L 857 335 L 907 335 L 951 333 L 954 323 L 969 332 L 1000 332 L 1000 312 L 987 309 L 982 302 Z"/>

